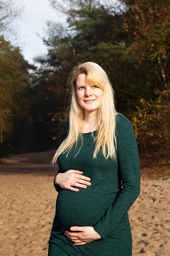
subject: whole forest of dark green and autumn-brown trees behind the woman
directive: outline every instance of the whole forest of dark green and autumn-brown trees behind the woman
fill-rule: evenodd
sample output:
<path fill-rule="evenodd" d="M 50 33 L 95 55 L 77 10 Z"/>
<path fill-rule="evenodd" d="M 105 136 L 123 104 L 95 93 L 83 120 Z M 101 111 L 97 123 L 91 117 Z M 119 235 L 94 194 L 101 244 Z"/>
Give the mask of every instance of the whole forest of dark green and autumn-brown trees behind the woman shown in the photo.
<path fill-rule="evenodd" d="M 109 75 L 118 112 L 133 123 L 142 167 L 169 168 L 169 1 L 49 2 L 67 23 L 47 23 L 48 54 L 36 57 L 36 68 L 5 39 L 21 10 L 0 1 L 0 157 L 57 148 L 68 119 L 69 71 L 95 61 Z"/>

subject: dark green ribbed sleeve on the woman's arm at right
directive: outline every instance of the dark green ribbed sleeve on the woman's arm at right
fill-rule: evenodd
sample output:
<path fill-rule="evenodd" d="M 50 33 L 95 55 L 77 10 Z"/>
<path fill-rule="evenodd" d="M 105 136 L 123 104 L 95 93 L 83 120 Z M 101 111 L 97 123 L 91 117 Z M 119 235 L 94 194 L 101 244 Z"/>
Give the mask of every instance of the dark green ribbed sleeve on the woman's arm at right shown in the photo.
<path fill-rule="evenodd" d="M 116 228 L 140 194 L 139 155 L 133 125 L 120 114 L 116 116 L 116 139 L 118 176 L 122 189 L 104 216 L 94 226 L 102 238 L 108 236 Z"/>

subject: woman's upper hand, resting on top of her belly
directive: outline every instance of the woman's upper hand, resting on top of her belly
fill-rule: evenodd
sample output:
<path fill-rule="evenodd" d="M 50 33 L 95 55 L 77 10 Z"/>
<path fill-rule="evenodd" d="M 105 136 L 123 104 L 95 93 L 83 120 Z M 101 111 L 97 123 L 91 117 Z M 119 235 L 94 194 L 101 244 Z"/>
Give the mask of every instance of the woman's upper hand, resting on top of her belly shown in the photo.
<path fill-rule="evenodd" d="M 78 170 L 68 170 L 64 173 L 58 173 L 55 177 L 55 184 L 61 188 L 78 192 L 79 189 L 72 186 L 86 188 L 91 185 L 89 182 L 90 178 L 82 174 L 83 172 Z"/>

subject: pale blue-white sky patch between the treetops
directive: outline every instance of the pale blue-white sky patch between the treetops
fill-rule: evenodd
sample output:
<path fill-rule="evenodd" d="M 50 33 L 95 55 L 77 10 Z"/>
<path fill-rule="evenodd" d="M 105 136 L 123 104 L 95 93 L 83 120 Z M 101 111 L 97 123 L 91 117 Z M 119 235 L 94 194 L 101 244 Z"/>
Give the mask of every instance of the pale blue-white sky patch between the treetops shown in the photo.
<path fill-rule="evenodd" d="M 14 0 L 15 6 L 24 6 L 22 17 L 17 22 L 19 32 L 19 47 L 29 63 L 34 64 L 33 57 L 47 53 L 47 47 L 38 37 L 45 35 L 43 28 L 47 28 L 46 21 L 66 22 L 66 17 L 56 13 L 49 6 L 48 0 Z M 35 63 L 38 66 L 37 63 Z"/>

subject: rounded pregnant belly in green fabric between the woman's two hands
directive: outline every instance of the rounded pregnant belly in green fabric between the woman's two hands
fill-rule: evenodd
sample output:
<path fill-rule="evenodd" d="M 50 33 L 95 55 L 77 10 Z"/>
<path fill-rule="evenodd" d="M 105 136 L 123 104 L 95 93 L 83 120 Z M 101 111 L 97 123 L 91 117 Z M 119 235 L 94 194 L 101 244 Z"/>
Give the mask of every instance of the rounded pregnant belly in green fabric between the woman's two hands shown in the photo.
<path fill-rule="evenodd" d="M 56 201 L 55 224 L 61 231 L 71 226 L 94 226 L 113 203 L 115 194 L 100 189 L 61 189 Z"/>

